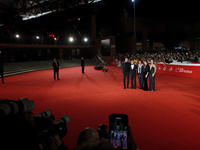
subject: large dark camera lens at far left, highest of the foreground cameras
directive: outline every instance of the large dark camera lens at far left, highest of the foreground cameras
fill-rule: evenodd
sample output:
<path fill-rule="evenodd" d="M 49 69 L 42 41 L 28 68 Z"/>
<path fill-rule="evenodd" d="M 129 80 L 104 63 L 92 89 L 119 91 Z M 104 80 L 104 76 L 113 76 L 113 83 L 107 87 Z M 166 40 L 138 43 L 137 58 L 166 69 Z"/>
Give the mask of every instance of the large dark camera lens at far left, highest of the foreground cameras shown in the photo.
<path fill-rule="evenodd" d="M 22 98 L 17 101 L 7 100 L 0 104 L 0 115 L 20 114 L 24 112 L 31 112 L 35 107 L 33 100 Z"/>

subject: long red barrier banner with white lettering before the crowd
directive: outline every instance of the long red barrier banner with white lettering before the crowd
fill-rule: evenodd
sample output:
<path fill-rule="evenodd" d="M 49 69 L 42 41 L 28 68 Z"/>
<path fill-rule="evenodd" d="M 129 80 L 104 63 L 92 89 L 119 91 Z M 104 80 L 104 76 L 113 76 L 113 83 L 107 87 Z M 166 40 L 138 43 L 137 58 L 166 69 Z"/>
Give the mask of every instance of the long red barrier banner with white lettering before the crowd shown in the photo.
<path fill-rule="evenodd" d="M 200 65 L 195 64 L 157 64 L 157 73 L 190 77 L 190 78 L 200 78 Z"/>

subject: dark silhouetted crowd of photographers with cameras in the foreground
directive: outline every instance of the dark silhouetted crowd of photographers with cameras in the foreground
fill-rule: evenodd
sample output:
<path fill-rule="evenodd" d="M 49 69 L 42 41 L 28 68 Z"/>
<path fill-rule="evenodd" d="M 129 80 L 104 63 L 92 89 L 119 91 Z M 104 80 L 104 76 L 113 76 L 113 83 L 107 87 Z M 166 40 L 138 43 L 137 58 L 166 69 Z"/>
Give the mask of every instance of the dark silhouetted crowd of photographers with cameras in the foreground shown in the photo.
<path fill-rule="evenodd" d="M 34 105 L 27 98 L 0 99 L 0 149 L 68 150 L 62 138 L 67 134 L 70 118 L 61 117 L 55 122 L 50 110 L 33 115 Z M 128 133 L 129 150 L 137 150 L 130 127 Z M 114 150 L 109 142 L 108 126 L 101 124 L 97 129 L 87 127 L 80 131 L 75 150 Z"/>

